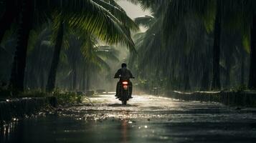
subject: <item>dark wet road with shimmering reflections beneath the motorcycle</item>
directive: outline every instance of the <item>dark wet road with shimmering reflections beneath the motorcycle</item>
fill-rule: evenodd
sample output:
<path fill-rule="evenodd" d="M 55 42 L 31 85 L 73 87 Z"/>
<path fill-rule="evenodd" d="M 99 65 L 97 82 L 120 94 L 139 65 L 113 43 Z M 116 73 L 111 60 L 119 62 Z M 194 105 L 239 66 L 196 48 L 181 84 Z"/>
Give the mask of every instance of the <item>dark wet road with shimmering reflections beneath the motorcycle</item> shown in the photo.
<path fill-rule="evenodd" d="M 217 103 L 113 95 L 85 99 L 1 129 L 1 142 L 256 142 L 256 109 Z"/>

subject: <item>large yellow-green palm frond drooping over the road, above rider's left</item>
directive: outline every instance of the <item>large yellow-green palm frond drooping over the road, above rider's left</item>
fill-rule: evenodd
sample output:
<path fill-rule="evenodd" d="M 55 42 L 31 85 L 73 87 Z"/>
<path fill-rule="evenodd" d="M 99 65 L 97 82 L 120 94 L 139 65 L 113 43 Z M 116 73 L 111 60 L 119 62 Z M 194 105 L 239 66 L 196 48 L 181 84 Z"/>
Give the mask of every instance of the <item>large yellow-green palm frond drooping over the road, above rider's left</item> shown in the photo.
<path fill-rule="evenodd" d="M 64 19 L 69 26 L 89 31 L 108 44 L 125 44 L 134 51 L 129 29 L 138 29 L 138 26 L 136 27 L 136 24 L 115 6 L 110 6 L 104 1 L 100 1 L 100 4 L 93 0 L 67 1 L 56 18 Z"/>

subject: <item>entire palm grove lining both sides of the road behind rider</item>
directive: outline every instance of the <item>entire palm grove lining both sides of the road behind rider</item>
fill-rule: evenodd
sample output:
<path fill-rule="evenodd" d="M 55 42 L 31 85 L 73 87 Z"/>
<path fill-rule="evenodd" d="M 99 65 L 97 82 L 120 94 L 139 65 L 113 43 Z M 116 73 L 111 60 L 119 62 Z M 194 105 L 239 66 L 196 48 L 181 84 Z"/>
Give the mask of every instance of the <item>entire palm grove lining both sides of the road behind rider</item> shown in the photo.
<path fill-rule="evenodd" d="M 255 1 L 128 1 L 151 15 L 131 19 L 115 0 L 0 1 L 2 80 L 90 89 L 125 61 L 147 91 L 255 89 Z"/>

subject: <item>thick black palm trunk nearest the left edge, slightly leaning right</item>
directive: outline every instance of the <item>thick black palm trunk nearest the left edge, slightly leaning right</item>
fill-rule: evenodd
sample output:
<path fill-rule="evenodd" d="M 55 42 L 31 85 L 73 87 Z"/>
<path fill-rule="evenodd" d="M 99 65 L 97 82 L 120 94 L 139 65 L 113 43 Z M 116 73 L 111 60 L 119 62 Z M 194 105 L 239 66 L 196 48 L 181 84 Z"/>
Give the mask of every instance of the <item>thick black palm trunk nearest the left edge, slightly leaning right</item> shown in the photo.
<path fill-rule="evenodd" d="M 19 19 L 19 29 L 14 62 L 11 69 L 11 79 L 9 87 L 20 92 L 24 91 L 24 72 L 26 67 L 27 44 L 29 31 L 32 28 L 34 14 L 34 0 L 22 1 L 22 13 Z"/>

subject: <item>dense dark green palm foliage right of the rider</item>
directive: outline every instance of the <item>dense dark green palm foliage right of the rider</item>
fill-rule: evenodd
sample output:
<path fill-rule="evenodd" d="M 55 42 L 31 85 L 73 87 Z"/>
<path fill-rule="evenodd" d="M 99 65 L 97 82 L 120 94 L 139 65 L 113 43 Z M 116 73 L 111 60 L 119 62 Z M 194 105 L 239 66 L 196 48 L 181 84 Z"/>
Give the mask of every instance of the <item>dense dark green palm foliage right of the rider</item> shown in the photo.
<path fill-rule="evenodd" d="M 143 89 L 255 89 L 253 0 L 133 0 L 152 16 L 134 36 L 130 64 Z"/>

